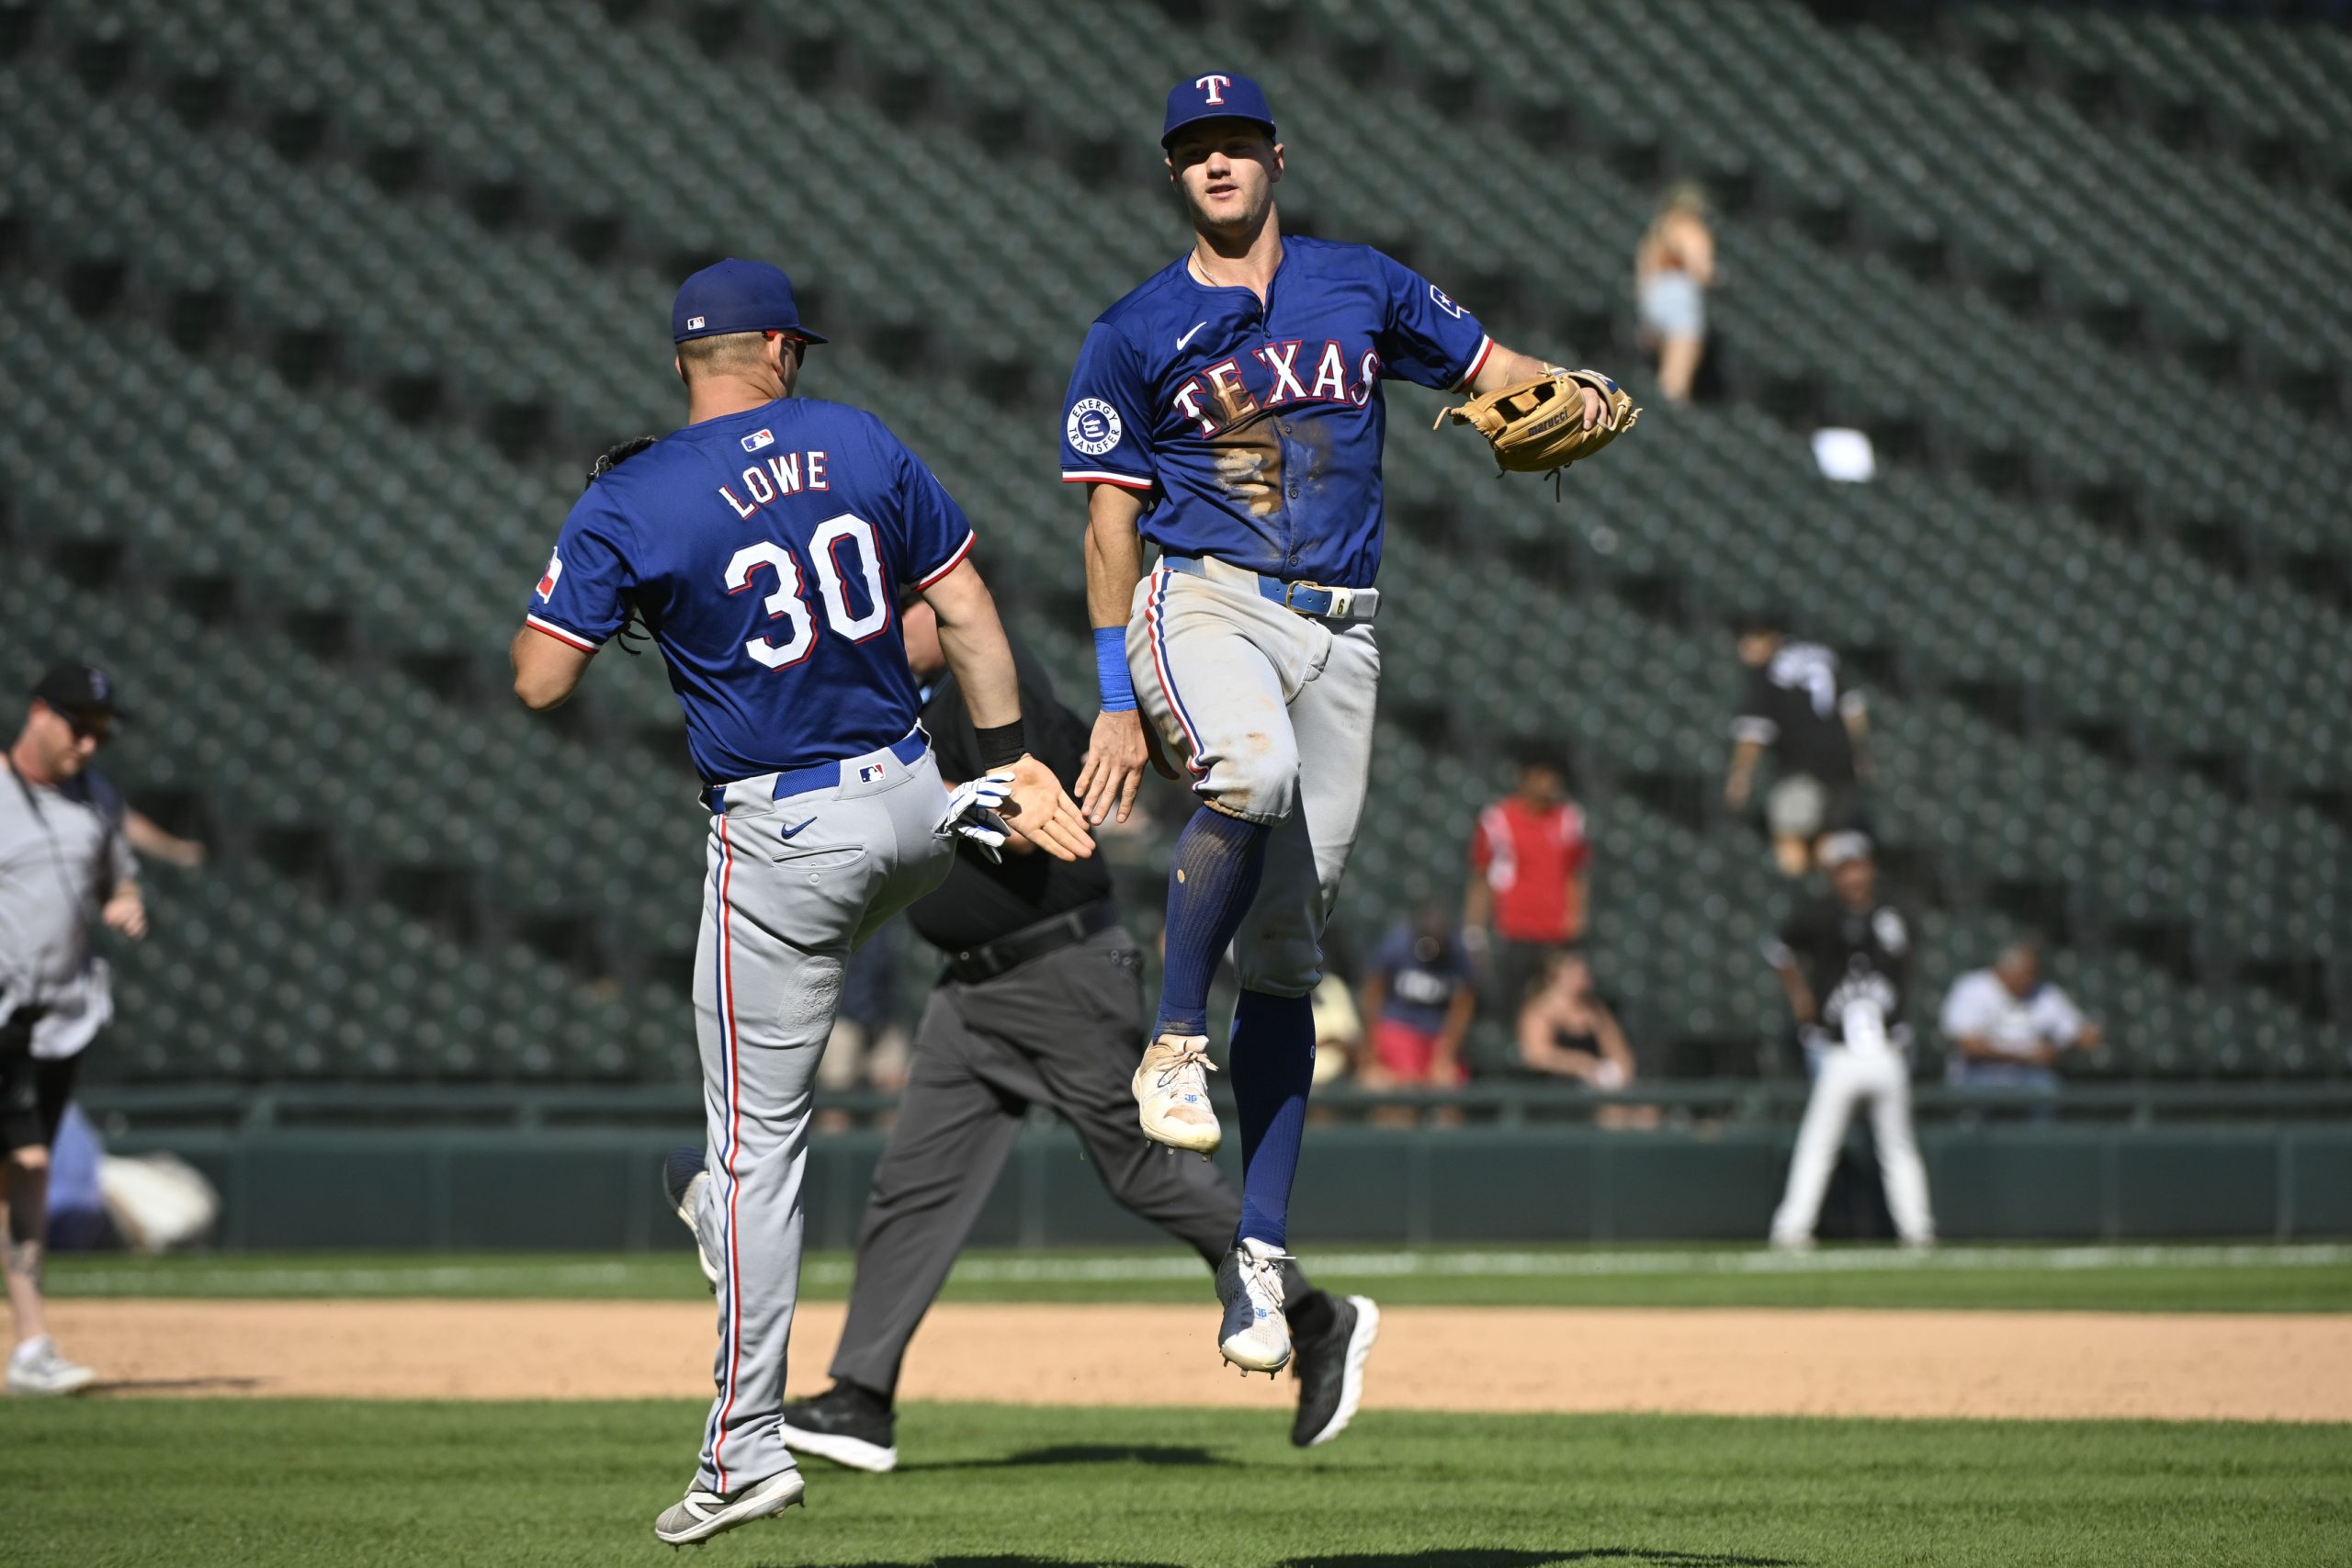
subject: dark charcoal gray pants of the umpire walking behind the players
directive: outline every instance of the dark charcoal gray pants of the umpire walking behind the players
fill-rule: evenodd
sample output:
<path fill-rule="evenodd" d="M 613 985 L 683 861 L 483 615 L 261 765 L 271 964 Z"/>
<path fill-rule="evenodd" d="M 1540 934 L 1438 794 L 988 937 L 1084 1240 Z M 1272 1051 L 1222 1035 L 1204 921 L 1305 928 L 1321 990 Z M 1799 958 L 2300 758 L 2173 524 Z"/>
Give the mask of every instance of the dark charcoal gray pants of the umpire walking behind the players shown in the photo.
<path fill-rule="evenodd" d="M 941 980 L 866 1197 L 835 1378 L 884 1396 L 898 1392 L 908 1340 L 964 1248 L 1030 1105 L 1049 1105 L 1077 1131 L 1120 1206 L 1216 1267 L 1242 1222 L 1242 1199 L 1207 1159 L 1162 1147 L 1136 1126 L 1127 1079 L 1143 1025 L 1143 952 L 1117 926 L 978 985 Z M 1284 1267 L 1296 1302 L 1308 1284 L 1296 1265 Z"/>

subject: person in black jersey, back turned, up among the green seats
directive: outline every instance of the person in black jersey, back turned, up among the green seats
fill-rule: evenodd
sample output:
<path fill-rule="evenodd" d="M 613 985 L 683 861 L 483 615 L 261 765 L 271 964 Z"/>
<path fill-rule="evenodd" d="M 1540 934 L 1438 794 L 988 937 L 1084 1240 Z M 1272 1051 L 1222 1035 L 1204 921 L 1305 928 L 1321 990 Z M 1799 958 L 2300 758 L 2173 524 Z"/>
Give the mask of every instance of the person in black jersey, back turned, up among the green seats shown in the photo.
<path fill-rule="evenodd" d="M 1802 877 L 1813 865 L 1813 839 L 1863 825 L 1858 790 L 1867 776 L 1870 710 L 1839 677 L 1837 654 L 1818 642 L 1792 642 L 1780 616 L 1743 618 L 1738 651 L 1748 679 L 1731 719 L 1724 804 L 1748 809 L 1757 762 L 1771 750 L 1778 778 L 1764 797 L 1764 825 L 1780 872 Z"/>

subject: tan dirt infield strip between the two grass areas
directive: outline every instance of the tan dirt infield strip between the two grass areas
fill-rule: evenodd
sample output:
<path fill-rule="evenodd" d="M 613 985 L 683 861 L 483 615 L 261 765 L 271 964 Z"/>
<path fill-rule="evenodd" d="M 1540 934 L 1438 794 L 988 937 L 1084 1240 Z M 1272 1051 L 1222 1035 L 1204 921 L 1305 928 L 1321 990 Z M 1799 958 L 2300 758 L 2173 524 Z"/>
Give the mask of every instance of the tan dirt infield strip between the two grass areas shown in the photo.
<path fill-rule="evenodd" d="M 680 1302 L 68 1300 L 120 1394 L 670 1399 L 710 1387 Z M 842 1307 L 795 1328 L 823 1387 Z M 906 1399 L 1284 1406 L 1216 1359 L 1197 1307 L 946 1305 Z M 2352 1316 L 1395 1307 L 1369 1401 L 1404 1410 L 2352 1420 Z"/>

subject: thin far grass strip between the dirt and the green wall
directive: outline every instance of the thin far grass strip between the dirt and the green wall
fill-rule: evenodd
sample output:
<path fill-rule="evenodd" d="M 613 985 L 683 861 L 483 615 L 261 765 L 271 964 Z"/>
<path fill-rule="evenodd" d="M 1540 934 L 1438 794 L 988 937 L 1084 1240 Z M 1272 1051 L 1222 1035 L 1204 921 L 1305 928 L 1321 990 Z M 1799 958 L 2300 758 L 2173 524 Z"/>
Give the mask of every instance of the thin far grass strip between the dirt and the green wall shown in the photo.
<path fill-rule="evenodd" d="M 2347 1312 L 2352 1246 L 1950 1246 L 1931 1255 L 1825 1248 L 1418 1248 L 1305 1255 L 1317 1284 L 1392 1305 L 2004 1307 L 2051 1312 Z M 849 1258 L 816 1253 L 811 1300 L 849 1293 Z M 56 1295 L 607 1298 L 696 1300 L 687 1255 L 263 1253 L 59 1258 Z M 948 1300 L 1200 1302 L 1185 1253 L 967 1253 Z"/>

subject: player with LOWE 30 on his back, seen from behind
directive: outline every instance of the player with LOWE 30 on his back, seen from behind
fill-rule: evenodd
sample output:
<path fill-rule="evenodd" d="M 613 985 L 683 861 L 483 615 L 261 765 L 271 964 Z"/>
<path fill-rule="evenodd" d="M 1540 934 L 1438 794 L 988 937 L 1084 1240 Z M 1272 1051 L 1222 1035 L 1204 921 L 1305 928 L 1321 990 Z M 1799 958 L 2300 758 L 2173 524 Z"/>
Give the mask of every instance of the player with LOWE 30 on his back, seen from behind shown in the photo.
<path fill-rule="evenodd" d="M 562 703 L 635 614 L 661 646 L 710 809 L 694 1020 L 708 1173 L 682 1194 L 720 1302 L 701 1465 L 654 1535 L 684 1544 L 800 1500 L 783 1354 L 800 1276 L 809 1084 L 842 964 L 948 875 L 1000 806 L 1056 858 L 1094 851 L 1028 755 L 971 524 L 880 418 L 793 395 L 821 336 L 790 280 L 720 261 L 670 315 L 687 425 L 600 475 L 515 632 L 515 693 Z M 938 611 L 983 773 L 953 797 L 915 722 L 898 592 Z"/>

